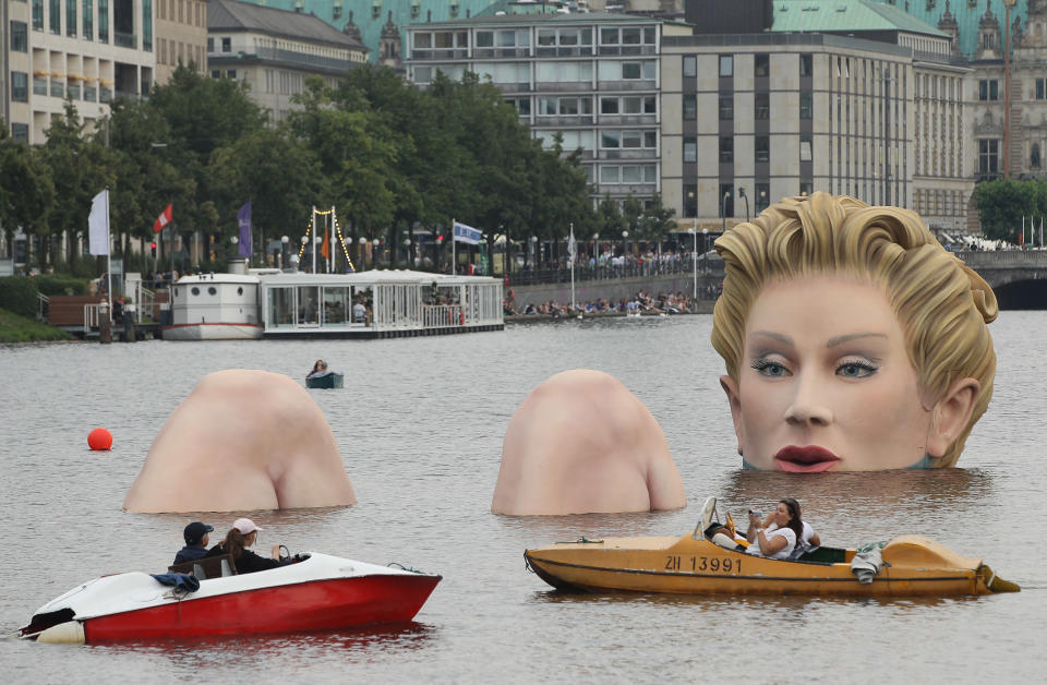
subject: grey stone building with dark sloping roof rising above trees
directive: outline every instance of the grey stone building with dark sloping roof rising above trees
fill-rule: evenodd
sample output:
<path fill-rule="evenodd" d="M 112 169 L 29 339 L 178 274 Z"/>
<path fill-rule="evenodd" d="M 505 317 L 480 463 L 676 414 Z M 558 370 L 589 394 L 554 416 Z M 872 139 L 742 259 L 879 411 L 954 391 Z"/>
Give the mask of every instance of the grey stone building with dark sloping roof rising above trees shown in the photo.
<path fill-rule="evenodd" d="M 207 65 L 215 79 L 237 79 L 250 96 L 282 121 L 306 76 L 329 85 L 368 60 L 353 36 L 315 16 L 237 0 L 210 0 L 207 12 Z"/>

